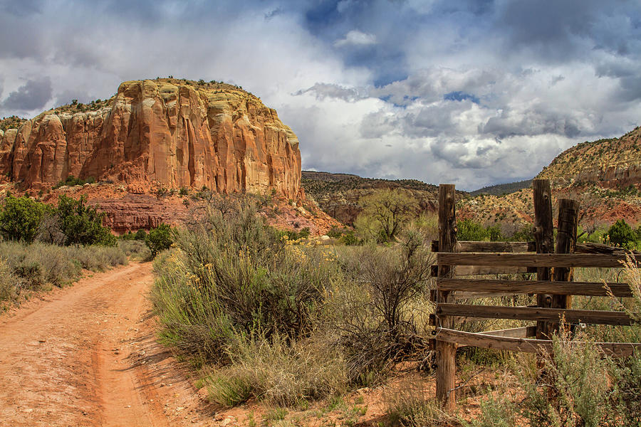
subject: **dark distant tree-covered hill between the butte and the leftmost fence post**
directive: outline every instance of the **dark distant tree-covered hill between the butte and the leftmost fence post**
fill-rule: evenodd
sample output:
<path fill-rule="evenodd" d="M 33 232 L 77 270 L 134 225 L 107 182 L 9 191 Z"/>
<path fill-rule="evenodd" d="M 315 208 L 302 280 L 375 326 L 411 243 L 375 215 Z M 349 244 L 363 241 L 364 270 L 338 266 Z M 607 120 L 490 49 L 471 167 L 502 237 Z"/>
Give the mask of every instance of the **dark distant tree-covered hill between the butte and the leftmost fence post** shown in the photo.
<path fill-rule="evenodd" d="M 362 178 L 353 174 L 331 174 L 329 172 L 301 172 L 301 186 L 314 199 L 320 209 L 345 224 L 353 224 L 361 211 L 360 198 L 377 189 L 405 189 L 417 199 L 425 211 L 436 211 L 439 187 L 417 179 L 376 179 Z M 464 191 L 457 191 L 463 198 Z"/>

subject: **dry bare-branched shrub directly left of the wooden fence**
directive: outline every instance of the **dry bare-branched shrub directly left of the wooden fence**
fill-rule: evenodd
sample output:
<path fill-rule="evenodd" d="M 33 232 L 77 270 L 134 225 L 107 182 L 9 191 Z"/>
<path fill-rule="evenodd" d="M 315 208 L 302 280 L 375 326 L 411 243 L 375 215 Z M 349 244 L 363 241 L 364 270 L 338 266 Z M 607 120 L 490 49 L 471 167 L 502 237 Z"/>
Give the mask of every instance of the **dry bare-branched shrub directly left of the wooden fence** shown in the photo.
<path fill-rule="evenodd" d="M 392 248 L 344 248 L 345 272 L 326 302 L 328 329 L 336 332 L 350 379 L 369 386 L 402 359 L 427 349 L 427 283 L 433 258 L 417 231 Z M 426 312 L 417 307 L 427 307 Z"/>

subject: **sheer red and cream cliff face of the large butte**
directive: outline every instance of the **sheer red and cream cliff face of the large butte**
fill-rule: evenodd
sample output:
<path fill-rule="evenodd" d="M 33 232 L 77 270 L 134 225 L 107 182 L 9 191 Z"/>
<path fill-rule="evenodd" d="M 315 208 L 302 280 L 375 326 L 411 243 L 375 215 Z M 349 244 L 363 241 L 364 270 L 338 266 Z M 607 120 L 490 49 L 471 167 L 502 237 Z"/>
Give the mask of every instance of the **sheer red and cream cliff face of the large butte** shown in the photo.
<path fill-rule="evenodd" d="M 0 135 L 0 174 L 32 189 L 83 179 L 301 195 L 298 138 L 276 111 L 224 84 L 125 82 L 91 112 L 43 112 Z"/>

